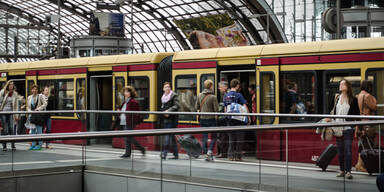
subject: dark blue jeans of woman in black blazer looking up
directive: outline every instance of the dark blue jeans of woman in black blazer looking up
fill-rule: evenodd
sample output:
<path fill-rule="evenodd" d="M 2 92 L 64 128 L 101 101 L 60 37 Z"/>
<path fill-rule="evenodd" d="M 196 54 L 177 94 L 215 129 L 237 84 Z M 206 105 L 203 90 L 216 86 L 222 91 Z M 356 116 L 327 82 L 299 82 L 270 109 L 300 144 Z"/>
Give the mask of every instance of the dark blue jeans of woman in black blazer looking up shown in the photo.
<path fill-rule="evenodd" d="M 350 172 L 352 168 L 353 129 L 343 131 L 342 137 L 336 137 L 340 171 Z"/>

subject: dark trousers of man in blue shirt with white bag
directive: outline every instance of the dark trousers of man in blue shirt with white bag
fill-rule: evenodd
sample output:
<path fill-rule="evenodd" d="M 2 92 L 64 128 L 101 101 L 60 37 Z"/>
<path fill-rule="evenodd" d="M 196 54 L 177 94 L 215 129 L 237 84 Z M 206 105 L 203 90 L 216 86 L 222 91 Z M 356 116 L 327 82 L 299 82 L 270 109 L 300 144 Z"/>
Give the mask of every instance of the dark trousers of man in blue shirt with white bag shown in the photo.
<path fill-rule="evenodd" d="M 231 119 L 228 121 L 228 126 L 240 126 L 245 125 L 243 122 Z M 229 137 L 229 147 L 228 147 L 228 157 L 241 159 L 243 153 L 243 142 L 244 142 L 244 132 L 230 132 Z"/>

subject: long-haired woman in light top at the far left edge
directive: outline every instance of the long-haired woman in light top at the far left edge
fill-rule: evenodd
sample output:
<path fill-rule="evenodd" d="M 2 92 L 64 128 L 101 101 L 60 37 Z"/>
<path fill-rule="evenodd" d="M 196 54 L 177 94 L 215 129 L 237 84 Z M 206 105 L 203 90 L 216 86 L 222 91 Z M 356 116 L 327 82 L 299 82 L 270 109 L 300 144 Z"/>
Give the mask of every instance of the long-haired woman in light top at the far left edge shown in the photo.
<path fill-rule="evenodd" d="M 19 111 L 19 100 L 16 87 L 13 81 L 8 81 L 0 91 L 0 111 Z M 19 120 L 18 114 L 4 114 L 1 116 L 3 130 L 1 135 L 15 135 L 15 125 Z M 15 143 L 12 143 L 12 150 L 16 150 Z M 3 143 L 3 151 L 7 151 L 7 143 Z"/>

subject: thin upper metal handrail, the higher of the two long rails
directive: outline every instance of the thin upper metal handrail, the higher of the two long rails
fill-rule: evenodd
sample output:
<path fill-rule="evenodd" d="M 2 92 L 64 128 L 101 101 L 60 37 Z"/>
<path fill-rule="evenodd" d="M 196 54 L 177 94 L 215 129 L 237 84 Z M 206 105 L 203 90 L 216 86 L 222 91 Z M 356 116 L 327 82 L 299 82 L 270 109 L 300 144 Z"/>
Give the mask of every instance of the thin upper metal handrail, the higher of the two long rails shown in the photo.
<path fill-rule="evenodd" d="M 111 110 L 57 110 L 57 111 L 0 111 L 6 114 L 34 113 L 103 113 L 103 114 L 144 114 L 144 115 L 205 115 L 205 116 L 256 116 L 256 117 L 299 117 L 299 118 L 340 118 L 340 119 L 383 119 L 382 115 L 330 115 L 330 114 L 289 114 L 289 113 L 214 113 L 214 112 L 165 112 L 165 111 L 111 111 Z"/>

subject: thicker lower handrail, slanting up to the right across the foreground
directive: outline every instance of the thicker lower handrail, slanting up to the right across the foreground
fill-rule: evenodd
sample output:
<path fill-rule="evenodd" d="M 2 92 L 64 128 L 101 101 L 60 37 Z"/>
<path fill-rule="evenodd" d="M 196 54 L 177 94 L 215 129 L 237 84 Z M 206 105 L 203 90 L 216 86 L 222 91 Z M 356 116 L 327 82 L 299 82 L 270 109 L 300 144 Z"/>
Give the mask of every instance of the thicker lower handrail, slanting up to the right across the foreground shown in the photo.
<path fill-rule="evenodd" d="M 178 134 L 199 134 L 213 132 L 234 132 L 234 131 L 264 131 L 282 129 L 313 129 L 324 127 L 359 126 L 359 125 L 378 125 L 384 124 L 384 120 L 373 121 L 347 121 L 338 123 L 296 123 L 279 125 L 246 125 L 233 127 L 197 127 L 180 129 L 146 129 L 146 130 L 125 130 L 125 131 L 99 131 L 99 132 L 76 132 L 76 133 L 55 133 L 38 135 L 16 135 L 0 136 L 1 142 L 24 142 L 34 140 L 69 140 L 69 139 L 95 139 L 127 136 L 159 136 L 159 135 L 178 135 Z"/>

